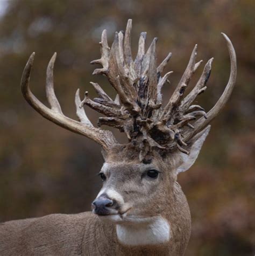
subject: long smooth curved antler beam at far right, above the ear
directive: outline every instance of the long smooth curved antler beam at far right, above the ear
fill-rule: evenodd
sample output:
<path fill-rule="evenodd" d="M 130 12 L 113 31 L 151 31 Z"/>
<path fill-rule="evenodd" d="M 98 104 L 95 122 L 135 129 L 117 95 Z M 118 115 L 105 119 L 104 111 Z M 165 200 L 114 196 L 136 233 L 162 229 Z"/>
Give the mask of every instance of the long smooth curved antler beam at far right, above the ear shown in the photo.
<path fill-rule="evenodd" d="M 221 109 L 225 106 L 225 103 L 228 101 L 233 91 L 233 87 L 235 86 L 236 74 L 237 74 L 236 52 L 228 36 L 226 36 L 226 34 L 224 33 L 222 33 L 222 35 L 226 40 L 226 45 L 228 46 L 229 55 L 230 55 L 231 68 L 230 68 L 230 77 L 229 77 L 228 84 L 226 85 L 223 94 L 218 99 L 215 106 L 207 113 L 207 119 L 204 119 L 204 117 L 201 117 L 199 120 L 197 120 L 193 124 L 194 129 L 192 130 L 192 132 L 187 132 L 184 135 L 185 141 L 188 141 L 195 134 L 201 132 L 201 130 L 203 130 L 204 127 L 208 126 L 211 120 L 214 119 L 214 117 L 217 116 L 218 113 L 221 111 Z"/>

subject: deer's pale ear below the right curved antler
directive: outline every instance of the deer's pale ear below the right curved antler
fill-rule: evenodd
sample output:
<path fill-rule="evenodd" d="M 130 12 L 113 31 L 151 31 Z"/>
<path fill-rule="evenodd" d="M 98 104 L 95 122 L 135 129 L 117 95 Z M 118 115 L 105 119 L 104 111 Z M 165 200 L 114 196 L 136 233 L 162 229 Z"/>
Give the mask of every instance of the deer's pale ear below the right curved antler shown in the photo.
<path fill-rule="evenodd" d="M 195 163 L 197 156 L 199 156 L 199 152 L 203 146 L 204 141 L 210 131 L 211 126 L 207 126 L 206 129 L 202 130 L 202 132 L 198 133 L 193 137 L 191 146 L 189 148 L 189 155 L 184 153 L 181 154 L 181 165 L 176 170 L 177 174 L 179 172 L 187 171 L 192 165 Z"/>

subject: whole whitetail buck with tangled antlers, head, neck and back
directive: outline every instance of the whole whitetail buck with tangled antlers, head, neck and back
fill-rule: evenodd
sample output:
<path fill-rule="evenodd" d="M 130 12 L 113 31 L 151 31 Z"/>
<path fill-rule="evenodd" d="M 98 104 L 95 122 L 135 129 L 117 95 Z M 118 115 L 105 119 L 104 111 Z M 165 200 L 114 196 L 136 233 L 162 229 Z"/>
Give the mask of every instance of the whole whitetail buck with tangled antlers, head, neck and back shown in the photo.
<path fill-rule="evenodd" d="M 194 105 L 197 95 L 206 90 L 212 59 L 185 96 L 185 89 L 202 61 L 196 63 L 195 45 L 188 66 L 166 106 L 162 106 L 162 86 L 172 72 L 162 75 L 171 53 L 157 67 L 155 45 L 145 52 L 146 33 L 140 35 L 138 53 L 132 59 L 131 20 L 126 31 L 116 32 L 111 48 L 107 33 L 102 33 L 102 57 L 93 74 L 105 75 L 117 92 L 112 100 L 93 82 L 99 98 L 88 92 L 81 101 L 79 89 L 75 104 L 79 121 L 62 113 L 53 88 L 56 54 L 47 67 L 46 94 L 51 108 L 43 105 L 29 88 L 32 53 L 22 77 L 22 93 L 29 104 L 46 119 L 74 133 L 89 137 L 102 146 L 105 163 L 100 172 L 103 188 L 94 200 L 93 212 L 77 215 L 49 215 L 13 220 L 0 225 L 1 255 L 183 255 L 190 237 L 190 212 L 181 186 L 179 172 L 195 162 L 206 139 L 209 123 L 224 107 L 236 80 L 236 55 L 229 38 L 231 72 L 228 85 L 216 105 L 205 112 Z M 95 128 L 83 106 L 105 117 L 107 124 L 124 132 L 127 144 L 119 144 L 114 135 Z"/>

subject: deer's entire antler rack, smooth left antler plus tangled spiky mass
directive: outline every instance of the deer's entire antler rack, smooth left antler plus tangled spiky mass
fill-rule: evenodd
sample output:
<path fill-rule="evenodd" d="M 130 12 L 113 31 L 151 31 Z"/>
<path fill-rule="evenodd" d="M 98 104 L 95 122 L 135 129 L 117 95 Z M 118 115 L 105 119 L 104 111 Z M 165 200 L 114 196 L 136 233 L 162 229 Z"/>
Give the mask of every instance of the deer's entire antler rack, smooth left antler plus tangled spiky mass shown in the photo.
<path fill-rule="evenodd" d="M 206 90 L 206 83 L 211 72 L 213 58 L 204 66 L 202 75 L 192 89 L 184 97 L 185 89 L 193 73 L 202 63 L 196 63 L 197 45 L 195 45 L 188 66 L 182 75 L 179 84 L 169 99 L 166 106 L 162 106 L 162 86 L 167 82 L 168 72 L 162 75 L 164 68 L 171 58 L 171 53 L 157 66 L 154 38 L 147 52 L 145 52 L 146 33 L 142 32 L 139 38 L 136 59 L 131 53 L 131 27 L 132 20 L 128 20 L 126 31 L 116 32 L 111 48 L 107 42 L 106 30 L 102 33 L 101 58 L 91 61 L 91 64 L 100 64 L 93 74 L 105 75 L 111 86 L 117 92 L 112 100 L 103 91 L 100 85 L 91 82 L 99 98 L 91 100 L 88 92 L 84 100 L 80 100 L 79 89 L 76 92 L 75 104 L 80 122 L 71 120 L 63 115 L 59 102 L 53 89 L 53 65 L 55 54 L 47 68 L 46 93 L 51 109 L 42 105 L 29 89 L 29 78 L 34 54 L 30 57 L 22 78 L 22 91 L 25 99 L 41 115 L 59 124 L 60 126 L 90 137 L 100 143 L 107 150 L 117 143 L 111 132 L 95 128 L 88 120 L 83 106 L 87 105 L 104 117 L 98 120 L 98 126 L 107 124 L 125 132 L 130 143 L 140 149 L 140 160 L 143 160 L 152 149 L 172 151 L 177 148 L 182 153 L 188 154 L 187 143 L 195 134 L 201 132 L 209 122 L 219 113 L 219 110 L 228 100 L 236 79 L 236 55 L 229 38 L 223 34 L 228 45 L 231 59 L 231 74 L 228 85 L 216 105 L 208 112 L 199 105 L 193 105 L 197 95 Z"/>

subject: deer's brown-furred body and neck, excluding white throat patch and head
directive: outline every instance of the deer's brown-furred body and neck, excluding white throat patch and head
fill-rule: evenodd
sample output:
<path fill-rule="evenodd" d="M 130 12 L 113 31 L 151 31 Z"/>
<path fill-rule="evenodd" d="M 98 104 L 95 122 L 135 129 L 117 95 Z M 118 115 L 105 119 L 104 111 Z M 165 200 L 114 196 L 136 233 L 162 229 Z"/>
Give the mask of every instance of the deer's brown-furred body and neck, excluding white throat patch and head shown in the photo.
<path fill-rule="evenodd" d="M 0 254 L 183 255 L 190 236 L 189 207 L 178 183 L 174 191 L 175 199 L 166 202 L 166 215 L 162 215 L 171 229 L 169 240 L 164 243 L 125 245 L 117 237 L 117 225 L 104 223 L 91 212 L 54 214 L 2 223 Z M 139 224 L 136 226 L 139 228 Z M 143 232 L 140 235 L 140 239 L 145 237 Z"/>

